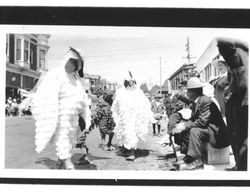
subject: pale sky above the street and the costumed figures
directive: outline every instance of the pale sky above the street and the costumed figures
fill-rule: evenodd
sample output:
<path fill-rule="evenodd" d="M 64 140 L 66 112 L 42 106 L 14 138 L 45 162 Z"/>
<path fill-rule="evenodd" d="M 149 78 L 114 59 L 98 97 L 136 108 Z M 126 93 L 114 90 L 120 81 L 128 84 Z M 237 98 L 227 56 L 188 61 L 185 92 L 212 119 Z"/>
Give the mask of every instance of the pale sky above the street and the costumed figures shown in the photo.
<path fill-rule="evenodd" d="M 208 28 L 67 27 L 50 33 L 48 68 L 60 65 L 68 46 L 72 46 L 82 51 L 86 73 L 119 84 L 131 71 L 138 83 L 160 85 L 188 62 L 187 37 L 194 57 L 191 62 L 195 63 L 215 37 L 244 38 L 242 32 Z"/>

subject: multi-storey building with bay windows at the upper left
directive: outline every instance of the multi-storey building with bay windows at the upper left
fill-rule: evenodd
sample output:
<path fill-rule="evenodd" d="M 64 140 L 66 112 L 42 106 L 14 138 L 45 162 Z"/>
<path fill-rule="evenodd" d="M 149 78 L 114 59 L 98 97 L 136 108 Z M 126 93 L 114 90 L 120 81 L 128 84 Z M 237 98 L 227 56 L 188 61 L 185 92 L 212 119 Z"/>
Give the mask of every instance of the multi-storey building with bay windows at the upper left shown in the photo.
<path fill-rule="evenodd" d="M 49 34 L 6 34 L 6 98 L 20 98 L 47 71 Z"/>

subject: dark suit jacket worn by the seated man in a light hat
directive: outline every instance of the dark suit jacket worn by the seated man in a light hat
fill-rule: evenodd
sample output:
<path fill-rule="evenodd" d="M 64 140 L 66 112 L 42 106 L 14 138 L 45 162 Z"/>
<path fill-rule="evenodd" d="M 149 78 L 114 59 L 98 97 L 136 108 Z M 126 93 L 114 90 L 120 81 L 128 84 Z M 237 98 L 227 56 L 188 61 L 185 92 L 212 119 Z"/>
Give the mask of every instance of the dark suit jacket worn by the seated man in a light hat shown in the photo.
<path fill-rule="evenodd" d="M 226 124 L 216 104 L 206 95 L 199 97 L 192 110 L 192 117 L 185 124 L 186 130 L 191 128 L 207 129 L 210 143 L 216 148 L 229 145 Z"/>

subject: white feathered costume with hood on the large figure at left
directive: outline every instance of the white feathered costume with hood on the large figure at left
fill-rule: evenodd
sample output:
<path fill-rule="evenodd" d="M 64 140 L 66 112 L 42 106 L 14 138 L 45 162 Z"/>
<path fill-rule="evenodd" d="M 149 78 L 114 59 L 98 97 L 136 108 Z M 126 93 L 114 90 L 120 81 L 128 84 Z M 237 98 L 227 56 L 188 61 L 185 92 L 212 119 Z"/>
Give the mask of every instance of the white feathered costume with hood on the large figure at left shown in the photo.
<path fill-rule="evenodd" d="M 32 97 L 36 151 L 40 153 L 49 141 L 55 142 L 57 156 L 62 160 L 71 157 L 72 145 L 80 132 L 79 115 L 85 119 L 86 128 L 90 126 L 84 83 L 77 72 L 65 71 L 70 58 L 76 58 L 72 51 L 62 66 L 45 75 Z"/>

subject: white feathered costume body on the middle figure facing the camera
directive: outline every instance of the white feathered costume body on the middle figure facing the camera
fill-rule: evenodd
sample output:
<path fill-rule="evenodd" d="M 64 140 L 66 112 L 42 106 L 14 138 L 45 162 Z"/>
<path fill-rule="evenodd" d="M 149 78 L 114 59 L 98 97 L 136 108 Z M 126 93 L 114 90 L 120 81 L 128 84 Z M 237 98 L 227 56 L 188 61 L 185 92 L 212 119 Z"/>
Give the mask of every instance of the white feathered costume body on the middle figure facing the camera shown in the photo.
<path fill-rule="evenodd" d="M 136 85 L 122 87 L 115 94 L 111 110 L 119 145 L 137 149 L 139 143 L 146 140 L 151 127 L 152 112 L 148 98 Z"/>

